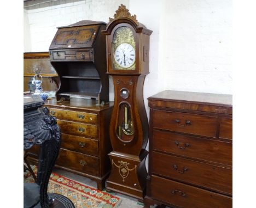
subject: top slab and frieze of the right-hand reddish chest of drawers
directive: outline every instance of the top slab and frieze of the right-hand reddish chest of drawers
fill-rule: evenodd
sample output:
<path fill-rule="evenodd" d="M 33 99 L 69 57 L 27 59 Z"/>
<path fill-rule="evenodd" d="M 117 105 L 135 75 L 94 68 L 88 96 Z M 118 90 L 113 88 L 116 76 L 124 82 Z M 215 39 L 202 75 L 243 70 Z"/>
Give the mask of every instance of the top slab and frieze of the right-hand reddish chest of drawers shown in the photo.
<path fill-rule="evenodd" d="M 150 107 L 232 115 L 232 95 L 165 90 L 148 98 Z"/>

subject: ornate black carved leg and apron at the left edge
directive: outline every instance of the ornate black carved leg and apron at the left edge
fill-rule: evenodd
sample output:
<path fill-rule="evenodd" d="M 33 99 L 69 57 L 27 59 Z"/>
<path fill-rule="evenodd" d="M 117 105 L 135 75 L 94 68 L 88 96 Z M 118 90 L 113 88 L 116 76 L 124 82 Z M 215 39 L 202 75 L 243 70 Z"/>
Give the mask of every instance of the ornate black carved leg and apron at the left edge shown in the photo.
<path fill-rule="evenodd" d="M 41 146 L 38 160 L 37 185 L 40 186 L 40 205 L 48 208 L 53 200 L 48 197 L 47 187 L 61 144 L 61 132 L 55 117 L 49 115 L 46 107 L 38 109 L 35 115 L 24 116 L 24 150 L 34 144 Z"/>

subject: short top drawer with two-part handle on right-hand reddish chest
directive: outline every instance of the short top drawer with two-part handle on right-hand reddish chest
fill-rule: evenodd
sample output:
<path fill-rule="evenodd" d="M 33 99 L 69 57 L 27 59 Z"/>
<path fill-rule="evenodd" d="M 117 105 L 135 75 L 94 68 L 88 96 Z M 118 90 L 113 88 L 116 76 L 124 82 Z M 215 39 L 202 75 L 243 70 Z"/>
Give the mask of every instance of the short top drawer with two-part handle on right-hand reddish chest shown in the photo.
<path fill-rule="evenodd" d="M 153 127 L 207 137 L 216 137 L 217 117 L 154 110 Z"/>

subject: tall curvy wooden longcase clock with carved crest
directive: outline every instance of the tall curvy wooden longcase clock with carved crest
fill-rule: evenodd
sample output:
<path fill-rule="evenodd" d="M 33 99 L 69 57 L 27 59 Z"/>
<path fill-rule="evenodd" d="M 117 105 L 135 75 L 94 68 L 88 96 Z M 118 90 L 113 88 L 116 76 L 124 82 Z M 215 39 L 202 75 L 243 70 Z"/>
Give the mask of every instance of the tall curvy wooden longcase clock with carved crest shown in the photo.
<path fill-rule="evenodd" d="M 106 30 L 107 71 L 114 82 L 115 101 L 110 121 L 112 170 L 107 189 L 143 199 L 146 189 L 148 119 L 143 84 L 149 73 L 152 30 L 120 5 Z"/>

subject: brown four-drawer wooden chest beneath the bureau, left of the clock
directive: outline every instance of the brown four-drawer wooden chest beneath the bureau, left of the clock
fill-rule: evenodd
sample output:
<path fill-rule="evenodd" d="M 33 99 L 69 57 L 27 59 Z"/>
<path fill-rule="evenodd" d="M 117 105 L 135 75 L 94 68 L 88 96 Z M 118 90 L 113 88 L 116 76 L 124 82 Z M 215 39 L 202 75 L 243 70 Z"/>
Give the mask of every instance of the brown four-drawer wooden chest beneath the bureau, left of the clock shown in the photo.
<path fill-rule="evenodd" d="M 45 103 L 61 128 L 61 149 L 55 166 L 95 180 L 97 189 L 102 190 L 110 173 L 109 121 L 113 102 L 97 106 L 95 100 L 85 101 L 71 98 Z"/>

